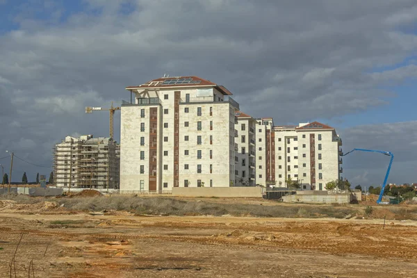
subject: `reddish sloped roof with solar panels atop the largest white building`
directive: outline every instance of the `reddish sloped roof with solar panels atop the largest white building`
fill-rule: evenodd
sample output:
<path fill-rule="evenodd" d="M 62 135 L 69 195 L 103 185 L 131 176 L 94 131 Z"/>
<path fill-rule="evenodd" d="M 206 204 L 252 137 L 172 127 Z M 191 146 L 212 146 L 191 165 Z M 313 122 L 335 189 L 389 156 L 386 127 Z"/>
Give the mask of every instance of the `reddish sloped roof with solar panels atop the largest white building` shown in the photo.
<path fill-rule="evenodd" d="M 215 84 L 206 79 L 199 78 L 198 76 L 174 76 L 174 77 L 161 77 L 143 83 L 142 85 L 129 86 L 126 87 L 126 90 L 135 90 L 135 89 L 147 89 L 147 88 L 170 88 L 170 87 L 198 87 L 198 86 L 213 86 L 223 95 L 233 95 L 227 88 L 224 88 L 222 85 Z"/>

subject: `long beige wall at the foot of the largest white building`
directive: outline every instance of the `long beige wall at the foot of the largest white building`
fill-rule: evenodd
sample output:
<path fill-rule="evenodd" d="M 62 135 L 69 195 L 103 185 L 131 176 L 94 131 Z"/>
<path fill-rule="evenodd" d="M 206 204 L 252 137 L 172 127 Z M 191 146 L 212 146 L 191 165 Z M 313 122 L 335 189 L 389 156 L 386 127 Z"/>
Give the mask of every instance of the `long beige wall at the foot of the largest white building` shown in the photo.
<path fill-rule="evenodd" d="M 259 197 L 262 198 L 261 187 L 200 187 L 200 188 L 172 188 L 173 196 L 185 197 Z"/>

